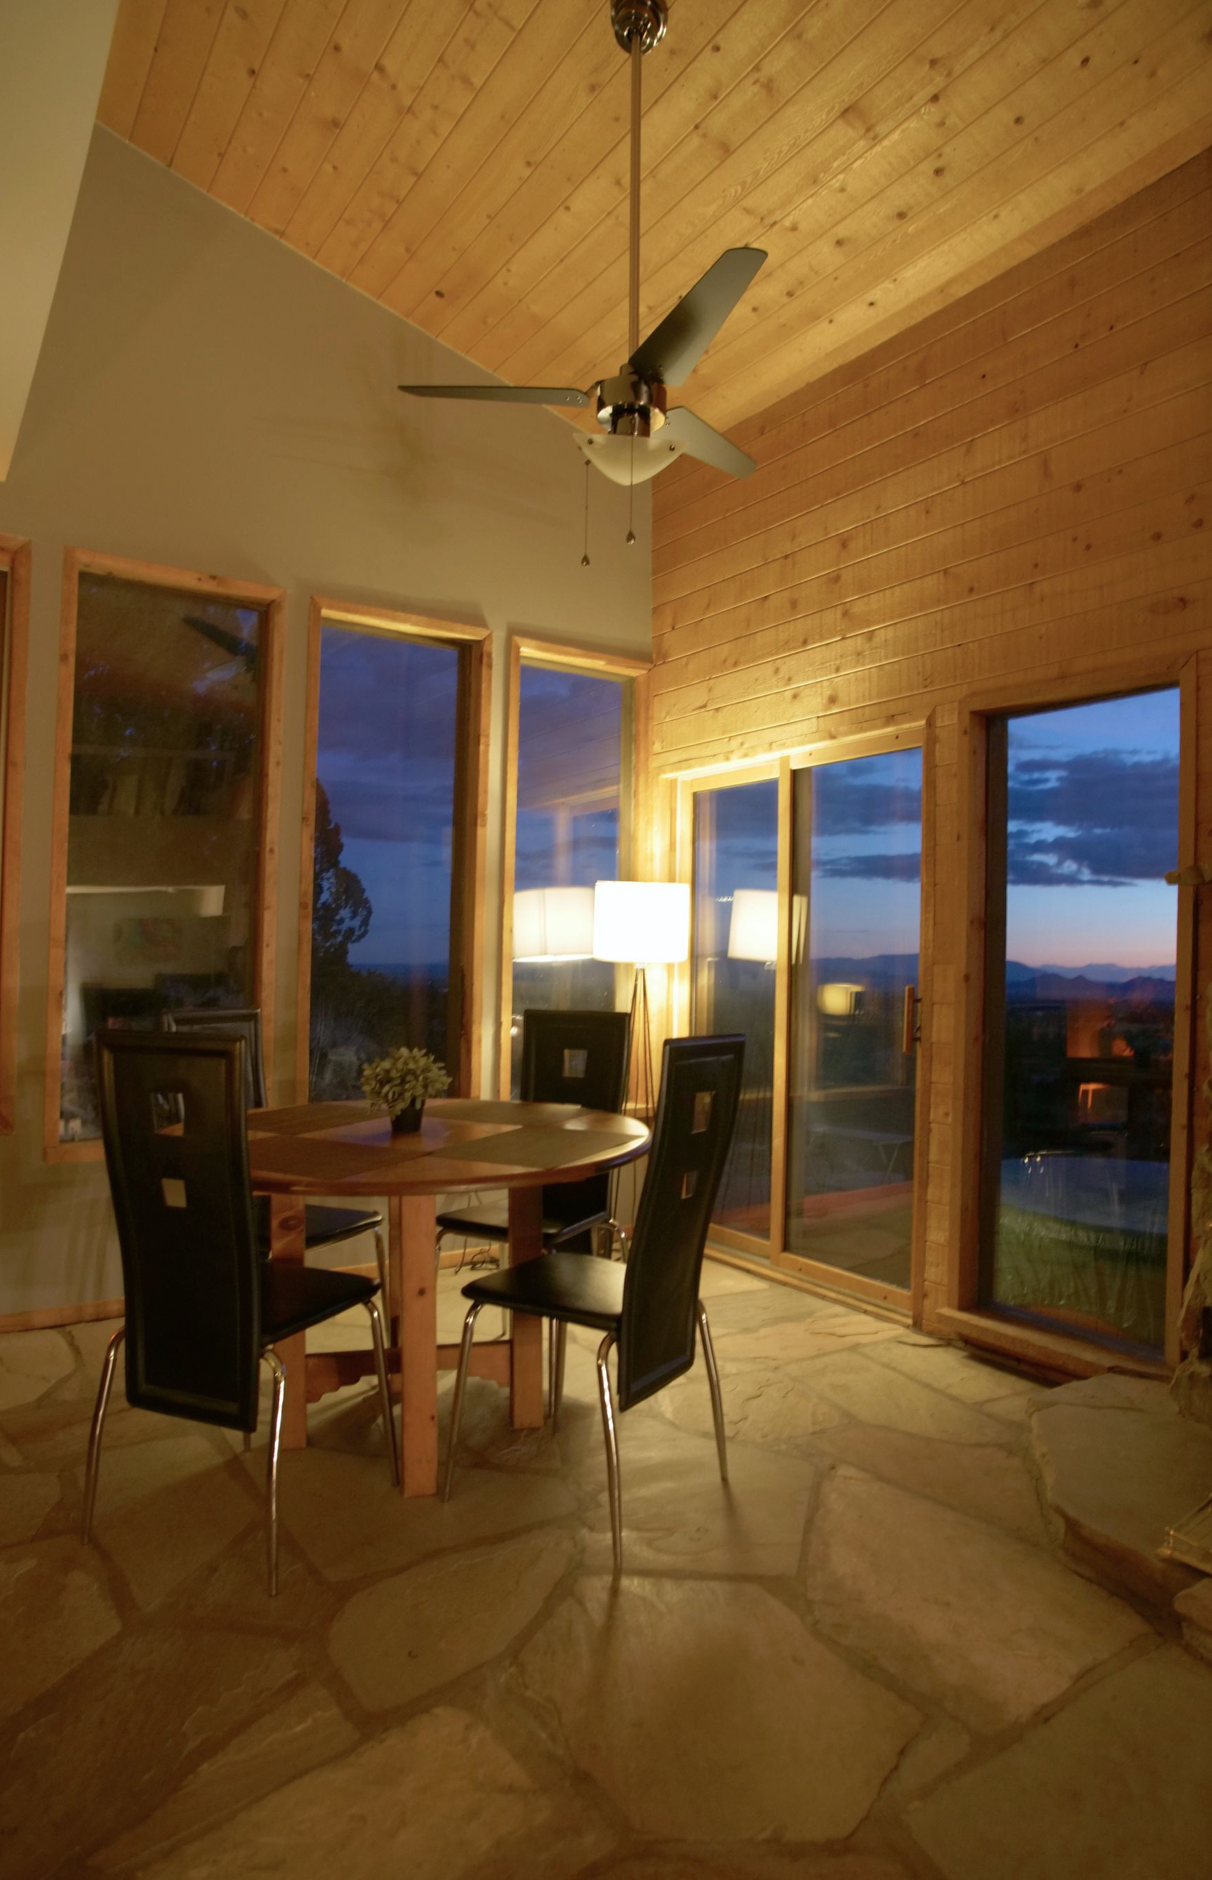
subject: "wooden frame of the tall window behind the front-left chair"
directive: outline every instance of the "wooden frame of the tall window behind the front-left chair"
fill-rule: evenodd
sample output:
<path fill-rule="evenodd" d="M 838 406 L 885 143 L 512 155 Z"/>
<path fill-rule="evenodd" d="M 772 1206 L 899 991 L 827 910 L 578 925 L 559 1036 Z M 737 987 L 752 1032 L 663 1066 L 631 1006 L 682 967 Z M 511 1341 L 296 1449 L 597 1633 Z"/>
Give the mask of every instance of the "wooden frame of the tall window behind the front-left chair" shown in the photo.
<path fill-rule="evenodd" d="M 54 810 L 51 823 L 51 934 L 47 974 L 47 1064 L 43 1107 L 43 1158 L 47 1162 L 101 1162 L 100 1141 L 64 1143 L 58 1137 L 62 1089 L 62 1023 L 66 996 L 68 938 L 68 812 L 71 799 L 71 714 L 75 703 L 75 624 L 81 575 L 111 575 L 175 594 L 203 594 L 257 607 L 265 615 L 265 664 L 259 714 L 257 852 L 254 1002 L 261 1008 L 267 1051 L 267 1077 L 272 1077 L 272 1004 L 276 972 L 276 887 L 278 823 L 282 803 L 282 660 L 286 590 L 259 581 L 235 581 L 171 568 L 162 562 L 130 560 L 92 549 L 64 551 L 62 617 L 58 643 L 58 697 L 54 709 Z"/>

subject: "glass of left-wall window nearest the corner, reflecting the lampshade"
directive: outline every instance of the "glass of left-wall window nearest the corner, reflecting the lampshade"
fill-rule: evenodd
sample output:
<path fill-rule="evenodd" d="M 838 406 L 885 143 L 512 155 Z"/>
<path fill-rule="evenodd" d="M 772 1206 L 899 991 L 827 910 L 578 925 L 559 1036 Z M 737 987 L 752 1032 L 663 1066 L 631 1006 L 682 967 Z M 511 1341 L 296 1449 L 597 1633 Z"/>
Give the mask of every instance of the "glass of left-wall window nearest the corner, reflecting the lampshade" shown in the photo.
<path fill-rule="evenodd" d="M 594 882 L 618 880 L 629 681 L 522 662 L 513 861 L 513 1092 L 522 1013 L 613 1011 Z"/>

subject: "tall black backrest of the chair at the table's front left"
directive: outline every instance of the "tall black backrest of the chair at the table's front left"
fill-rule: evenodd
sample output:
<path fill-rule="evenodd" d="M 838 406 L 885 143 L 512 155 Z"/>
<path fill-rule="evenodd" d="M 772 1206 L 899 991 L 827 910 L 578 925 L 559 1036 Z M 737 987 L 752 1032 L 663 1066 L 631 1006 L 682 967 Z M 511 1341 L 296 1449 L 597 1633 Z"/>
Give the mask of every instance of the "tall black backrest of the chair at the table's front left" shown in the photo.
<path fill-rule="evenodd" d="M 126 1286 L 126 1397 L 257 1427 L 261 1258 L 242 1038 L 101 1028 L 96 1079 Z M 163 1124 L 165 1117 L 179 1120 Z"/>

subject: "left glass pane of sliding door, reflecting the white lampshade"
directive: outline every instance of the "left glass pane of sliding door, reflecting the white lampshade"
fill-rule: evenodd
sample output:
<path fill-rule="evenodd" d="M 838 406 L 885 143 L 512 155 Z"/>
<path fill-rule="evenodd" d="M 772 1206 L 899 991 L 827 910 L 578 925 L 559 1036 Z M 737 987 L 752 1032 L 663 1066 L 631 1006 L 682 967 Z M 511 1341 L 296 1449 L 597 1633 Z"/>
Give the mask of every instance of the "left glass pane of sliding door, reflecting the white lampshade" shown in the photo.
<path fill-rule="evenodd" d="M 744 1081 L 712 1220 L 770 1237 L 778 782 L 695 795 L 691 1030 L 744 1032 Z"/>

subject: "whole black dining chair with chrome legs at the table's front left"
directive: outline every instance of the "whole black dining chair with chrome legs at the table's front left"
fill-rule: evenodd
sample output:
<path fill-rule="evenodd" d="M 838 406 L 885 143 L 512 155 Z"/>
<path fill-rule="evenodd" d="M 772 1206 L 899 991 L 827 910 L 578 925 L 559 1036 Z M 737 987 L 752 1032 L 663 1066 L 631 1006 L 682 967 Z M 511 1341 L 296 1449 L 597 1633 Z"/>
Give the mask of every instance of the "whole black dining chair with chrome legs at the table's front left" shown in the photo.
<path fill-rule="evenodd" d="M 109 1340 L 92 1414 L 83 1538 L 92 1536 L 105 1410 L 122 1342 L 126 1401 L 133 1408 L 246 1436 L 257 1427 L 265 1363 L 274 1386 L 269 1419 L 269 1590 L 274 1594 L 286 1367 L 272 1346 L 353 1305 L 366 1307 L 389 1463 L 398 1483 L 380 1288 L 357 1273 L 263 1258 L 248 1186 L 244 1038 L 101 1028 L 94 1049 L 126 1324 Z"/>

